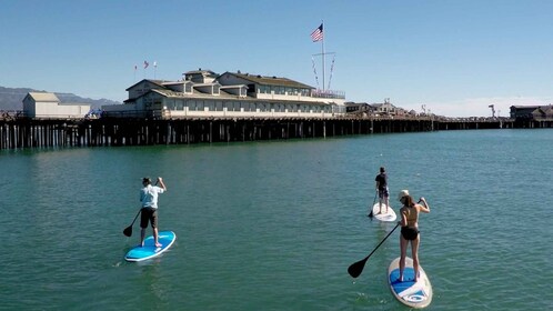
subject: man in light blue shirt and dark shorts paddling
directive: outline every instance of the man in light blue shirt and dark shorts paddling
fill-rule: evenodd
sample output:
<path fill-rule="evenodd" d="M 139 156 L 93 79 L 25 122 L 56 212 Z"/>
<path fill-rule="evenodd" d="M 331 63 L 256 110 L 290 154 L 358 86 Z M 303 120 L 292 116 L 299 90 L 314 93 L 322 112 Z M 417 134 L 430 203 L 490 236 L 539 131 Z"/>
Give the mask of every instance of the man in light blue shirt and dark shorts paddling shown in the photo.
<path fill-rule="evenodd" d="M 140 215 L 140 245 L 144 245 L 145 229 L 150 222 L 153 231 L 153 242 L 157 248 L 161 248 L 158 242 L 158 194 L 167 191 L 167 187 L 163 183 L 161 177 L 158 178 L 155 184 L 152 185 L 152 180 L 148 177 L 142 179 L 143 188 L 140 190 L 140 203 L 142 204 L 141 215 Z"/>

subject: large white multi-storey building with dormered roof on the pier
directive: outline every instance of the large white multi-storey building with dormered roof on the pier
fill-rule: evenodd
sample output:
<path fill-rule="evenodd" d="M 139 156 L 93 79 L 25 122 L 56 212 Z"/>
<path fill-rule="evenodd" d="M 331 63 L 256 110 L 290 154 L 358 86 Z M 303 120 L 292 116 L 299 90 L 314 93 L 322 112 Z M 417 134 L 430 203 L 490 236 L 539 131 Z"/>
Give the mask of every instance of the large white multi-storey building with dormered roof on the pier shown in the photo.
<path fill-rule="evenodd" d="M 127 89 L 124 104 L 103 106 L 120 118 L 334 118 L 345 96 L 276 77 L 194 70 L 179 81 L 144 79 Z"/>

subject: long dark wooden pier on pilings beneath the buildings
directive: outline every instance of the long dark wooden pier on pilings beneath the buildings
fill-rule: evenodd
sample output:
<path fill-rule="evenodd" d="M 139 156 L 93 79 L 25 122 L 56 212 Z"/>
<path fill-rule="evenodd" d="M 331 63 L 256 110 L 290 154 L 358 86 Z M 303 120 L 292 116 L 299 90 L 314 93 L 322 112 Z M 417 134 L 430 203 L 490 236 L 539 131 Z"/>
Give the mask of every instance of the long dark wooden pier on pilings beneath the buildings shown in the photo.
<path fill-rule="evenodd" d="M 191 144 L 442 130 L 553 128 L 550 121 L 334 119 L 0 119 L 0 149 Z"/>

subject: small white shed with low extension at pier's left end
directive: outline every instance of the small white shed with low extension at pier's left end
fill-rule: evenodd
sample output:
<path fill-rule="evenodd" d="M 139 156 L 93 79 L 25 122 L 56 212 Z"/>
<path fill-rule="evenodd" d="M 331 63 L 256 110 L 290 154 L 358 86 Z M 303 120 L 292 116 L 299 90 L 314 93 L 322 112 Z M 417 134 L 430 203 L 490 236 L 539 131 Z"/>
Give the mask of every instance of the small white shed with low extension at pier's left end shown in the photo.
<path fill-rule="evenodd" d="M 81 119 L 90 104 L 61 103 L 54 93 L 29 92 L 23 99 L 23 116 L 33 119 Z"/>

